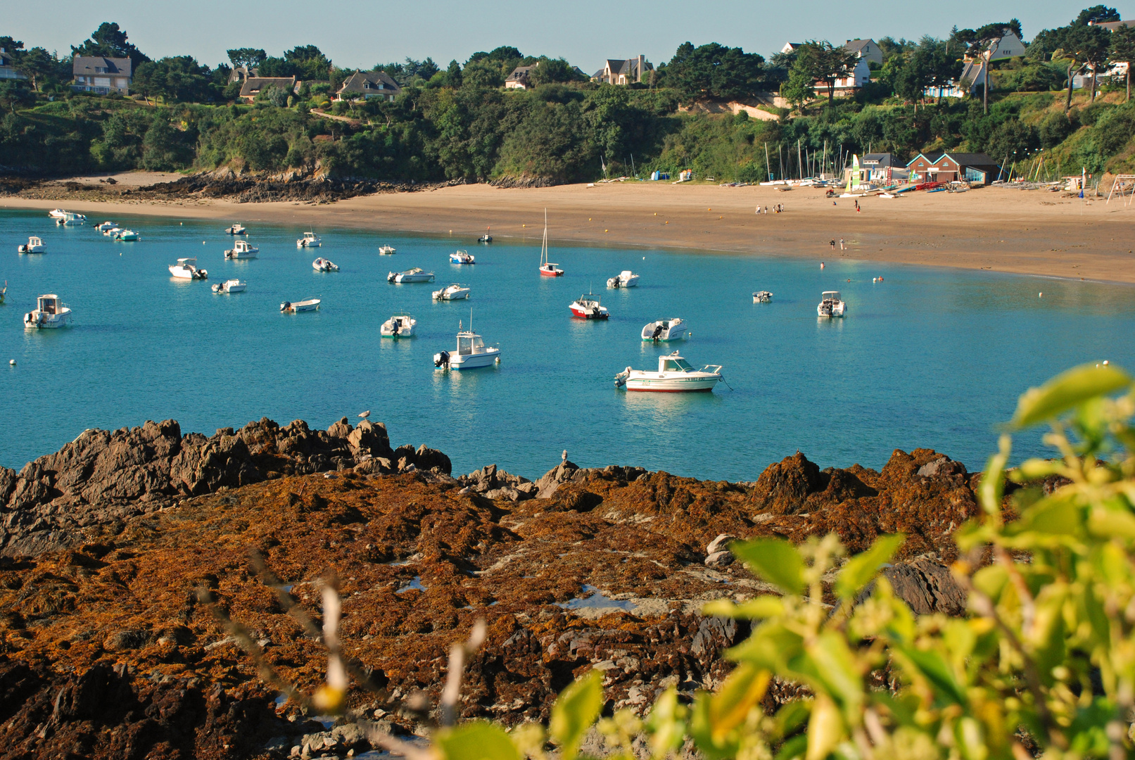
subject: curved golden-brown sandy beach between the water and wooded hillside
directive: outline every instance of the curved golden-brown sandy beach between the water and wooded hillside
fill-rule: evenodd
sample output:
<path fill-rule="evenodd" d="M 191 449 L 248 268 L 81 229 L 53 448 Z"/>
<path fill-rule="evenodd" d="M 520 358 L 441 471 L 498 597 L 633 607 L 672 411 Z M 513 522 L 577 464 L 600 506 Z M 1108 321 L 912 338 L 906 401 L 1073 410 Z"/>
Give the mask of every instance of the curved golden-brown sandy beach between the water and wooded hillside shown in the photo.
<path fill-rule="evenodd" d="M 120 184 L 168 181 L 176 175 L 115 175 Z M 76 178 L 91 183 L 98 178 Z M 60 184 L 62 191 L 62 185 Z M 464 185 L 417 193 L 379 193 L 327 204 L 91 202 L 0 197 L 0 208 L 48 210 L 64 204 L 101 221 L 115 214 L 288 223 L 451 234 L 468 246 L 493 228 L 497 239 L 539 245 L 544 210 L 555 243 L 742 252 L 833 260 L 840 256 L 1018 275 L 1135 282 L 1135 204 L 1079 200 L 1061 193 L 978 188 L 911 193 L 899 199 L 824 197 L 824 191 L 718 187 L 667 183 L 564 185 L 502 189 Z M 756 208 L 783 204 L 783 213 Z M 100 217 L 95 220 L 94 217 Z M 830 242 L 836 240 L 833 251 Z M 846 250 L 839 250 L 842 239 Z"/>

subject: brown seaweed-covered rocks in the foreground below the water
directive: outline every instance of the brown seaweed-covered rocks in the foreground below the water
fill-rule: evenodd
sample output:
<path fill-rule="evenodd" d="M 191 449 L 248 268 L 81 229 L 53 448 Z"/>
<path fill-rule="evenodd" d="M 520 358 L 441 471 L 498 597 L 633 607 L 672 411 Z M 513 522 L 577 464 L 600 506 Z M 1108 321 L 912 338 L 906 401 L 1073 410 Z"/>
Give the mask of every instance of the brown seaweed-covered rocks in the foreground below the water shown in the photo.
<path fill-rule="evenodd" d="M 454 478 L 440 451 L 393 448 L 381 423 L 346 419 L 208 438 L 174 421 L 89 430 L 0 470 L 0 758 L 360 752 L 363 718 L 423 731 L 447 649 L 478 618 L 489 633 L 462 717 L 546 719 L 590 668 L 609 708 L 646 710 L 670 685 L 692 694 L 729 672 L 722 652 L 747 628 L 700 608 L 768 590 L 732 561 L 732 537 L 834 531 L 856 551 L 905 532 L 886 571 L 898 593 L 960 614 L 945 564 L 978 480 L 930 449 L 897 450 L 877 472 L 797 453 L 748 483 L 570 462 L 530 481 L 494 465 Z M 382 694 L 353 690 L 348 715 L 321 724 L 259 679 L 200 590 L 309 693 L 326 652 L 253 555 L 314 619 L 335 580 L 343 650 Z M 777 684 L 767 707 L 797 695 Z"/>

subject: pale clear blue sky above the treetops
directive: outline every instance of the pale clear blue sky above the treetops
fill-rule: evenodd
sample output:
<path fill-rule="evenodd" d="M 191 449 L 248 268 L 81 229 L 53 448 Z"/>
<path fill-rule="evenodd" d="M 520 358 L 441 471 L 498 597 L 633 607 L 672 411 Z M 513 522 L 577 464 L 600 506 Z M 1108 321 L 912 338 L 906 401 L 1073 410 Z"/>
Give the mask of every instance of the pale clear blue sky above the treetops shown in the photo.
<path fill-rule="evenodd" d="M 515 45 L 526 56 L 563 56 L 585 71 L 604 58 L 645 54 L 669 60 L 687 40 L 720 42 L 765 57 L 784 42 L 807 39 L 942 36 L 957 24 L 976 27 L 1019 18 L 1025 37 L 1067 24 L 1084 7 L 1056 0 L 651 0 L 533 2 L 418 0 L 385 2 L 247 2 L 239 0 L 52 0 L 50 12 L 35 2 L 9 0 L 0 34 L 69 52 L 101 22 L 118 22 L 151 58 L 192 54 L 213 66 L 229 48 L 263 48 L 278 56 L 297 44 L 318 45 L 336 65 L 368 68 L 376 62 L 431 57 L 443 68 L 478 50 Z M 1111 3 L 1108 3 L 1111 5 Z M 1135 0 L 1116 3 L 1124 18 Z"/>

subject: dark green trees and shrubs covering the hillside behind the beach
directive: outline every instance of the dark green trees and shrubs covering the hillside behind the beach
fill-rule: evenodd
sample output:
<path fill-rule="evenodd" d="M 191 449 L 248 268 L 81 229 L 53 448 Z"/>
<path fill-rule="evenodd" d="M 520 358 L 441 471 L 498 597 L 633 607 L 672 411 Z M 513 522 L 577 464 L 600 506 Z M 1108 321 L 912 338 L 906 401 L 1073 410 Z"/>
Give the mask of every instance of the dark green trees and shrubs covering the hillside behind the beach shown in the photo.
<path fill-rule="evenodd" d="M 58 175 L 127 169 L 328 172 L 389 181 L 557 184 L 693 169 L 699 178 L 757 181 L 831 171 L 850 153 L 989 153 L 1054 178 L 1135 168 L 1135 111 L 1127 77 L 1087 77 L 1135 57 L 1135 31 L 1093 23 L 1096 6 L 1040 32 L 1024 57 L 994 62 L 975 94 L 942 96 L 962 56 L 981 56 L 1010 20 L 942 39 L 881 37 L 883 64 L 854 96 L 827 86 L 854 54 L 809 41 L 768 59 L 716 43 L 684 43 L 628 86 L 595 84 L 563 59 L 503 47 L 464 64 L 376 64 L 401 92 L 393 101 L 335 100 L 353 69 L 314 45 L 279 56 L 244 48 L 209 67 L 190 56 L 150 59 L 117 24 L 102 24 L 76 54 L 129 57 L 131 96 L 73 92 L 70 58 L 0 37 L 26 79 L 0 83 L 0 171 Z M 505 90 L 518 66 L 527 90 Z M 238 99 L 234 67 L 294 76 Z M 989 86 L 985 86 L 985 76 Z M 825 84 L 826 83 L 826 84 Z M 816 96 L 816 87 L 824 92 Z M 774 95 L 781 96 L 774 105 Z M 743 108 L 742 108 L 743 107 Z M 337 118 L 329 118 L 337 117 Z M 805 163 L 801 169 L 800 163 Z"/>

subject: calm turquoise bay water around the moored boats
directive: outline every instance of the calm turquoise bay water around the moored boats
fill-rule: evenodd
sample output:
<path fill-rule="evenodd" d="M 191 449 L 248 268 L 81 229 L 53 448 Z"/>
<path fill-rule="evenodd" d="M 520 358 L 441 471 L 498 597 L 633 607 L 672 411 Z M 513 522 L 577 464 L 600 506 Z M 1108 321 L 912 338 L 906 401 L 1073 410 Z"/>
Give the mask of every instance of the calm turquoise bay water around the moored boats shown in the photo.
<path fill-rule="evenodd" d="M 568 449 L 582 466 L 753 480 L 797 449 L 821 466 L 878 467 L 894 448 L 919 446 L 980 468 L 995 448 L 994 424 L 1029 385 L 1079 362 L 1135 366 L 1129 287 L 563 245 L 550 257 L 568 273 L 549 279 L 536 271 L 539 230 L 480 246 L 317 229 L 323 247 L 301 251 L 303 228 L 250 225 L 260 257 L 227 262 L 228 222 L 111 219 L 142 242 L 103 237 L 93 229 L 102 218 L 59 228 L 42 212 L 0 212 L 0 464 L 19 468 L 85 428 L 171 417 L 183 431 L 211 434 L 266 415 L 326 428 L 371 409 L 394 445 L 439 448 L 456 472 L 496 463 L 535 478 Z M 28 235 L 43 237 L 47 255 L 16 254 Z M 384 243 L 398 253 L 379 256 Z M 478 263 L 449 264 L 459 247 Z M 171 280 L 167 265 L 193 255 L 209 280 Z M 316 272 L 317 256 L 342 271 Z M 386 281 L 389 270 L 411 267 L 437 272 L 437 282 Z M 640 286 L 608 292 L 606 279 L 623 269 L 641 275 Z M 228 277 L 246 280 L 247 292 L 210 292 Z M 431 290 L 451 281 L 471 285 L 472 297 L 432 302 Z M 611 310 L 607 322 L 569 314 L 591 286 Z M 772 303 L 754 304 L 758 289 L 772 290 Z M 847 319 L 816 318 L 825 289 L 843 293 Z M 73 327 L 25 332 L 22 316 L 41 293 L 72 306 Z M 306 297 L 322 298 L 322 309 L 279 313 L 281 301 Z M 501 345 L 502 363 L 435 371 L 432 355 L 452 349 L 470 309 L 486 343 Z M 417 337 L 380 338 L 379 324 L 402 310 L 418 319 Z M 692 337 L 641 343 L 644 324 L 670 316 L 686 319 Z M 674 347 L 691 364 L 724 365 L 732 390 L 614 388 L 616 372 L 656 368 Z M 1039 440 L 1022 437 L 1017 454 L 1039 453 Z"/>

